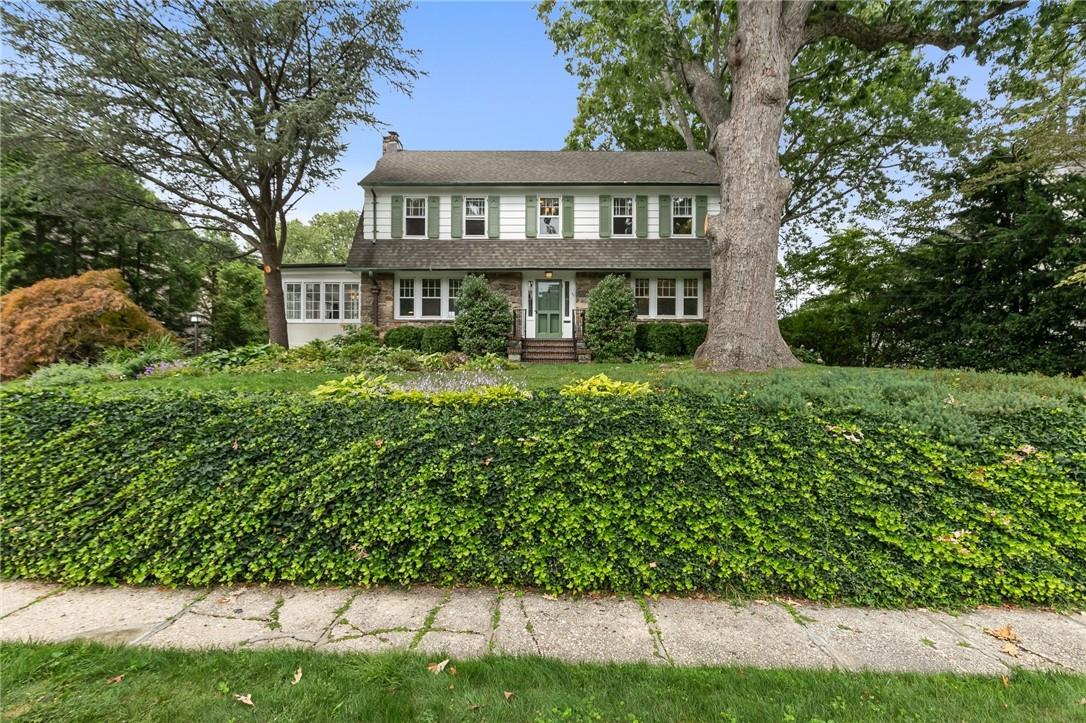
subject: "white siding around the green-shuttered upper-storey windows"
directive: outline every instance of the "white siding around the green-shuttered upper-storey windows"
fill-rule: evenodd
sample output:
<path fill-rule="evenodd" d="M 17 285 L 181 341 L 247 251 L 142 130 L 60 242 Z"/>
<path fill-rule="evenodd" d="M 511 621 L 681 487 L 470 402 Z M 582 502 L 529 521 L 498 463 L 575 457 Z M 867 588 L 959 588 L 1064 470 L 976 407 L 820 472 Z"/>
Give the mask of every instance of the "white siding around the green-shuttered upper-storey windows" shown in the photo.
<path fill-rule="evenodd" d="M 720 193 L 716 187 L 707 186 L 683 186 L 683 187 L 659 187 L 659 186 L 599 186 L 599 187 L 506 187 L 506 188 L 449 188 L 440 187 L 397 187 L 377 188 L 376 208 L 367 210 L 366 238 L 374 238 L 376 232 L 378 239 L 388 239 L 392 236 L 392 196 L 430 196 L 437 195 L 440 202 L 440 239 L 452 239 L 452 196 L 453 195 L 497 195 L 501 198 L 501 238 L 505 240 L 517 240 L 525 238 L 525 196 L 526 195 L 572 195 L 573 196 L 573 238 L 577 239 L 598 239 L 599 238 L 599 195 L 647 195 L 648 196 L 648 237 L 658 239 L 659 237 L 659 196 L 667 194 L 675 195 L 707 195 L 708 213 L 710 215 L 720 213 Z M 366 189 L 366 202 L 374 205 L 374 195 Z M 534 214 L 534 210 L 531 212 Z"/>

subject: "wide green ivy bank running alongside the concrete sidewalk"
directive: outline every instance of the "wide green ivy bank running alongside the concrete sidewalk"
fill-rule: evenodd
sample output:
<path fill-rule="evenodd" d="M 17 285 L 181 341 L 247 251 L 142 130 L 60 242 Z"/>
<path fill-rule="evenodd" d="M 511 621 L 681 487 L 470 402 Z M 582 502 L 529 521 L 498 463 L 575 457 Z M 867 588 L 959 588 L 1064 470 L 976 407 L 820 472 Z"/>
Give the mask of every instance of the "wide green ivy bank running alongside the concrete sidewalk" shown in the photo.
<path fill-rule="evenodd" d="M 678 390 L 2 402 L 4 576 L 1086 601 L 1086 403 L 952 444 Z"/>

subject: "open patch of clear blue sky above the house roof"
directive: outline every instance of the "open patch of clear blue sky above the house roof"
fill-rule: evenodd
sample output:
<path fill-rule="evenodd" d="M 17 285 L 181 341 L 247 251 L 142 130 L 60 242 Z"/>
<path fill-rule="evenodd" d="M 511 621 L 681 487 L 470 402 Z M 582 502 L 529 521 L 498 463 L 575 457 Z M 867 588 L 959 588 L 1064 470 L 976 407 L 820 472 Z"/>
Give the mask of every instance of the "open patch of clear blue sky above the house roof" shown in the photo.
<path fill-rule="evenodd" d="M 427 75 L 411 97 L 381 93 L 375 115 L 416 151 L 559 150 L 577 113 L 577 80 L 554 53 L 531 2 L 424 1 L 404 16 L 407 48 Z M 381 155 L 384 129 L 343 137 L 343 174 L 310 193 L 293 218 L 362 208 L 358 180 Z"/>

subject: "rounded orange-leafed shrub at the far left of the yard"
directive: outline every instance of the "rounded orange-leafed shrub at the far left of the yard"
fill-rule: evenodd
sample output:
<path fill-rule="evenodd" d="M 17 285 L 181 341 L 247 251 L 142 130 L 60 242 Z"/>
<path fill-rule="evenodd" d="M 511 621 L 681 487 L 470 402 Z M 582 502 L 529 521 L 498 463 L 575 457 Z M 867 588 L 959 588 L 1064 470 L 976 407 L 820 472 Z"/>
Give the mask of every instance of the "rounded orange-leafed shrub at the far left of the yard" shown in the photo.
<path fill-rule="evenodd" d="M 0 377 L 89 359 L 108 346 L 165 333 L 127 291 L 121 271 L 109 269 L 45 279 L 0 296 Z"/>

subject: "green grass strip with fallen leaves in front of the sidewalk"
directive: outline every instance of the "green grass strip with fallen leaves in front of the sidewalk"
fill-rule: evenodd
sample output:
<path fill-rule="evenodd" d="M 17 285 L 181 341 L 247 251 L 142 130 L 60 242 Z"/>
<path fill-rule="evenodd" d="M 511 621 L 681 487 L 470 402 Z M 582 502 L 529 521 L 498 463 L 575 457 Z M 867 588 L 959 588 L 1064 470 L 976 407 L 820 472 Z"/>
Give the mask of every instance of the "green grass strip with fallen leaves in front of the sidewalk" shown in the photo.
<path fill-rule="evenodd" d="M 13 721 L 1082 721 L 1086 678 L 5 644 Z M 292 686 L 294 671 L 302 680 Z M 455 674 L 453 674 L 455 668 Z M 111 683 L 111 678 L 124 680 Z M 513 696 L 506 699 L 505 692 Z M 235 695 L 251 695 L 252 708 Z"/>

